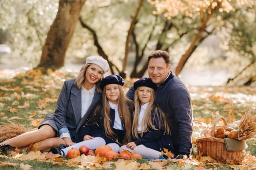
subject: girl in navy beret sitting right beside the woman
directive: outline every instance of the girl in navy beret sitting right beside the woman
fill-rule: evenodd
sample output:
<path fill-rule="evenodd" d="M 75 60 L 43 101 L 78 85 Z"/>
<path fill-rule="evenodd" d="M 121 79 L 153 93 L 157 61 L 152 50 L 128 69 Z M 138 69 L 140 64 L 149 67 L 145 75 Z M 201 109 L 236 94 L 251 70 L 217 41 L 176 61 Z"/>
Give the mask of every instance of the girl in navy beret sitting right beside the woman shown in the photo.
<path fill-rule="evenodd" d="M 102 102 L 85 121 L 80 129 L 83 141 L 65 149 L 52 148 L 52 153 L 66 155 L 71 148 L 85 145 L 94 150 L 101 145 L 109 145 L 118 152 L 120 145 L 132 140 L 133 102 L 125 97 L 124 80 L 118 75 L 109 75 L 101 80 Z"/>

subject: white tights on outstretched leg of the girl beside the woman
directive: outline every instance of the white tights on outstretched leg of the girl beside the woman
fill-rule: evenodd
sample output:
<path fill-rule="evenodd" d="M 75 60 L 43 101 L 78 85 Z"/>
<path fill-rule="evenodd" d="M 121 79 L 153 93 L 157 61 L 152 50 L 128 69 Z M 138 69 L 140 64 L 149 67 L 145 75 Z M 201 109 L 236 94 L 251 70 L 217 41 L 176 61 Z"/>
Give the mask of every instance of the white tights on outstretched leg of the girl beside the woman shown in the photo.
<path fill-rule="evenodd" d="M 61 150 L 64 152 L 64 155 L 67 155 L 68 150 L 70 150 L 71 148 L 79 149 L 79 147 L 82 145 L 87 146 L 91 150 L 95 150 L 99 146 L 106 145 L 106 142 L 102 137 L 94 137 L 93 139 L 81 141 L 79 143 L 76 143 L 72 146 L 69 146 L 69 147 L 61 149 Z"/>

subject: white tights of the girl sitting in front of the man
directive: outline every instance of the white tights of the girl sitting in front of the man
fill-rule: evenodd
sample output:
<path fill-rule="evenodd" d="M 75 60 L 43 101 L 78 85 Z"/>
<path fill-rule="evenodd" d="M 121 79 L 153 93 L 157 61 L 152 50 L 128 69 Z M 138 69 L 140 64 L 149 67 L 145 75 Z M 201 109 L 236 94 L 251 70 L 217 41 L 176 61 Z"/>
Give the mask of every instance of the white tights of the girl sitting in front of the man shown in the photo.
<path fill-rule="evenodd" d="M 132 153 L 138 153 L 142 157 L 145 157 L 147 159 L 158 159 L 160 155 L 159 151 L 147 148 L 144 145 L 138 145 L 137 147 L 134 148 L 134 150 L 132 150 L 131 148 L 127 148 L 126 145 L 123 145 L 120 147 L 119 152 L 122 152 L 124 150 L 128 150 Z"/>

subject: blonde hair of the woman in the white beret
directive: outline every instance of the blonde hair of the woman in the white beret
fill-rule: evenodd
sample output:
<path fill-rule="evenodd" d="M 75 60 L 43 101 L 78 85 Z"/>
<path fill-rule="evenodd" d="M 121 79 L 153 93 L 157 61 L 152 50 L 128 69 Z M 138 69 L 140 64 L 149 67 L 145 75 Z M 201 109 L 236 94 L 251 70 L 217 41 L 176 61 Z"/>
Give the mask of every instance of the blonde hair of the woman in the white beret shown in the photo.
<path fill-rule="evenodd" d="M 75 85 L 80 89 L 85 81 L 85 73 L 87 71 L 87 68 L 89 68 L 89 66 L 91 65 L 91 63 L 89 64 L 85 64 L 81 67 L 79 73 L 78 73 L 78 77 L 75 81 Z M 102 80 L 104 78 L 104 75 L 102 75 L 101 79 Z M 99 88 L 99 83 L 100 83 L 100 80 L 96 83 L 96 89 L 98 91 L 98 93 L 101 93 L 101 89 Z"/>

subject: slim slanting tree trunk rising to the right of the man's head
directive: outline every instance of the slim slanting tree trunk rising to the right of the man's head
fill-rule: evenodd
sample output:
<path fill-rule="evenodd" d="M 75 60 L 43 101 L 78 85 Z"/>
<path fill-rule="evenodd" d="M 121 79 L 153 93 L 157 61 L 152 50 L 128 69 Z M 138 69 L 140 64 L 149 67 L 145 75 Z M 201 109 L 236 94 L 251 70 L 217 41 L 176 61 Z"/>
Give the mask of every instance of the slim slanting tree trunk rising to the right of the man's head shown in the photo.
<path fill-rule="evenodd" d="M 213 14 L 216 12 L 216 10 L 219 8 L 221 2 L 218 2 L 217 6 L 211 10 L 211 14 L 209 14 L 204 20 L 202 20 L 202 23 L 199 27 L 199 31 L 196 35 L 196 37 L 193 39 L 191 45 L 189 46 L 188 50 L 181 56 L 179 63 L 175 69 L 175 74 L 179 75 L 179 73 L 181 72 L 182 68 L 184 67 L 184 65 L 186 64 L 186 62 L 188 61 L 189 57 L 191 56 L 193 49 L 195 49 L 195 46 L 197 45 L 197 41 L 200 39 L 201 35 L 203 34 L 205 28 L 206 28 L 206 24 L 207 22 L 210 20 L 210 18 L 213 16 Z M 211 5 L 210 5 L 211 6 Z"/>

